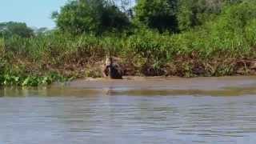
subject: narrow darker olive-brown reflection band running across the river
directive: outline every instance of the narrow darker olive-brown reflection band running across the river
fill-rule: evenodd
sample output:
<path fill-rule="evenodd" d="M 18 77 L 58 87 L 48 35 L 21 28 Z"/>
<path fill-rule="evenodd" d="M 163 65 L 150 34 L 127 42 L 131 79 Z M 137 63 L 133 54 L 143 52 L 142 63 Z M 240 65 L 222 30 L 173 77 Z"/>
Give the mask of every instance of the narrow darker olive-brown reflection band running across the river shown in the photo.
<path fill-rule="evenodd" d="M 247 94 L 256 94 L 255 87 L 226 87 L 221 90 L 133 90 L 133 89 L 115 89 L 114 87 L 105 87 L 99 89 L 81 89 L 69 87 L 5 87 L 0 89 L 0 97 L 94 97 L 94 96 L 242 96 Z"/>

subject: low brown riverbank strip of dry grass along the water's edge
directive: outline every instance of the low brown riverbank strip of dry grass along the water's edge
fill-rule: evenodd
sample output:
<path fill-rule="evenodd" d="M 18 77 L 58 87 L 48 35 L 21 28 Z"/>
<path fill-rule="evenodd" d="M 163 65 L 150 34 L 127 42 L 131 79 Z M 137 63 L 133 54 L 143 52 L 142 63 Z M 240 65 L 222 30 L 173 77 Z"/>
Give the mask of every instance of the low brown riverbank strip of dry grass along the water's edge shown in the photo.
<path fill-rule="evenodd" d="M 11 54 L 11 53 L 7 53 Z M 1 58 L 0 58 L 1 60 Z M 180 56 L 161 66 L 147 58 L 115 57 L 127 78 L 137 77 L 222 77 L 222 76 L 251 76 L 256 74 L 256 59 L 219 58 L 201 59 L 196 55 Z M 81 78 L 102 78 L 102 67 L 105 58 L 76 58 L 70 62 L 59 60 L 62 63 L 54 64 L 52 61 L 37 62 L 27 58 L 14 58 L 8 55 L 2 58 L 0 65 L 0 86 L 46 86 L 52 82 L 66 82 Z"/>

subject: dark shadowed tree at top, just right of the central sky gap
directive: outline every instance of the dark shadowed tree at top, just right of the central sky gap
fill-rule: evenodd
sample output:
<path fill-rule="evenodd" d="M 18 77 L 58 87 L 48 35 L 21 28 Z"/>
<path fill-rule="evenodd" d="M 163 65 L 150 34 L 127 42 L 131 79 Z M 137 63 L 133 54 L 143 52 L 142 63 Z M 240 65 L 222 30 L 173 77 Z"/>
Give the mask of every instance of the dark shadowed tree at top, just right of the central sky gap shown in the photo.
<path fill-rule="evenodd" d="M 134 22 L 160 32 L 178 30 L 177 0 L 138 0 Z"/>

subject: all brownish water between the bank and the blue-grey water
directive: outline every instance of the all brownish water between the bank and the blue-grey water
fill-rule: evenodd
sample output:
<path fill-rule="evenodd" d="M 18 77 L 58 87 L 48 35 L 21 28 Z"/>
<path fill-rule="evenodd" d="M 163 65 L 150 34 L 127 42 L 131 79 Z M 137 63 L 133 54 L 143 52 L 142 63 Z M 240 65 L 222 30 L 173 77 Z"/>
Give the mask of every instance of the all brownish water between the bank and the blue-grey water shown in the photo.
<path fill-rule="evenodd" d="M 36 88 L 0 87 L 1 97 L 242 96 L 256 94 L 256 77 L 77 80 Z"/>

